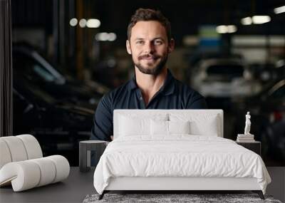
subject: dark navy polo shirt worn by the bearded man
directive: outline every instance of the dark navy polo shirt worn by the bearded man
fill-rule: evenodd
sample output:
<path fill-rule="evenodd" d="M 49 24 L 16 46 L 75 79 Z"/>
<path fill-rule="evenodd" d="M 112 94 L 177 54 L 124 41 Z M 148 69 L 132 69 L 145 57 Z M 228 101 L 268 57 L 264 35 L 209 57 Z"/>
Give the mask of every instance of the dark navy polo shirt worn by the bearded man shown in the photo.
<path fill-rule="evenodd" d="M 90 140 L 110 141 L 113 135 L 113 111 L 115 109 L 205 109 L 203 96 L 175 79 L 167 70 L 167 78 L 160 90 L 145 105 L 135 77 L 103 96 L 93 119 Z"/>

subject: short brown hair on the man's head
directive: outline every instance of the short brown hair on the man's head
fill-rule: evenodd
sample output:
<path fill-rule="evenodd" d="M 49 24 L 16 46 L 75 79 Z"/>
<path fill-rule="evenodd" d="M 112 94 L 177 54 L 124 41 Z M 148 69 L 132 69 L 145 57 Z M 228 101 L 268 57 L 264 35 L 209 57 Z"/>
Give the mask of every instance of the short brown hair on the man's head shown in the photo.
<path fill-rule="evenodd" d="M 165 27 L 167 39 L 170 41 L 172 37 L 170 21 L 168 21 L 168 19 L 165 18 L 165 16 L 163 16 L 160 11 L 155 11 L 152 9 L 137 9 L 135 11 L 135 14 L 133 14 L 128 25 L 128 40 L 130 40 L 131 30 L 133 26 L 135 26 L 138 21 L 159 21 L 160 24 Z"/>

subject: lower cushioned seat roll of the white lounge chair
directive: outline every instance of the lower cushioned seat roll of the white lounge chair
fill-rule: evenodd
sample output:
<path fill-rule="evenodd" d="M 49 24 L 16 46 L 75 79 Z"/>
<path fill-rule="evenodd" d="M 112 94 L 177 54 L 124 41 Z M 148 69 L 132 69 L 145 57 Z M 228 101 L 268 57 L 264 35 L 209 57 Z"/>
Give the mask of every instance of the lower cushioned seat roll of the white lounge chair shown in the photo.
<path fill-rule="evenodd" d="M 0 170 L 0 186 L 11 182 L 14 192 L 59 182 L 69 175 L 68 160 L 53 155 L 21 162 L 10 162 Z"/>

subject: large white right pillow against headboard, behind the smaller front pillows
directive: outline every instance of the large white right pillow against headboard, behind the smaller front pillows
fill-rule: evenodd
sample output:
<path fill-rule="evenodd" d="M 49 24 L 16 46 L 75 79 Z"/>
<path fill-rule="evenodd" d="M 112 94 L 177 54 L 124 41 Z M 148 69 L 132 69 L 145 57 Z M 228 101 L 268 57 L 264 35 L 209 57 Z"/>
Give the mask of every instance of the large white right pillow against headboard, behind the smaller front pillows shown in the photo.
<path fill-rule="evenodd" d="M 218 136 L 219 117 L 217 114 L 185 114 L 185 113 L 170 113 L 171 121 L 190 120 L 190 134 L 191 135 L 207 135 Z"/>

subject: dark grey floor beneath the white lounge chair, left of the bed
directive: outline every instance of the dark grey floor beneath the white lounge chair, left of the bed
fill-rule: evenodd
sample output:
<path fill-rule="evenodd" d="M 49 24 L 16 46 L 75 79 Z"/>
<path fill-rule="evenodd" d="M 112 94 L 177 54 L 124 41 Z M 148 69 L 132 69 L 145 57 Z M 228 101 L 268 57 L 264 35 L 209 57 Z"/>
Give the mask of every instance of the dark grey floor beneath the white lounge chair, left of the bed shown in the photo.
<path fill-rule="evenodd" d="M 71 167 L 68 179 L 24 192 L 13 192 L 11 187 L 0 188 L 0 202 L 83 202 L 87 194 L 95 193 L 93 173 L 79 172 Z"/>

